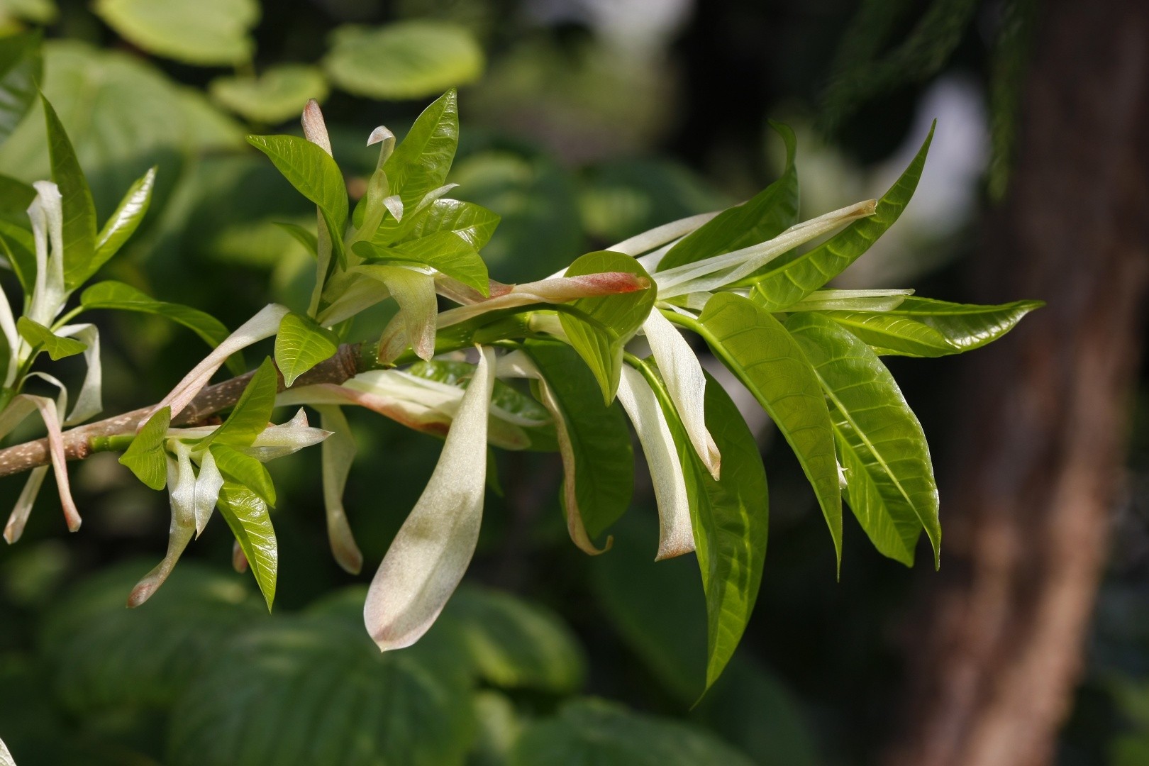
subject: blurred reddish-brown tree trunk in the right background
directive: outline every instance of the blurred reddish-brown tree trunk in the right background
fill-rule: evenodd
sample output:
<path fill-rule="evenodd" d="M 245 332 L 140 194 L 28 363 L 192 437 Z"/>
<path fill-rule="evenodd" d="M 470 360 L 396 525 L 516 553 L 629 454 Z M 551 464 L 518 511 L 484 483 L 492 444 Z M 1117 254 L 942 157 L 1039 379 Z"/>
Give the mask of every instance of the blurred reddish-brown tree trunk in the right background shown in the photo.
<path fill-rule="evenodd" d="M 1044 308 L 970 359 L 942 571 L 905 647 L 894 766 L 1055 755 L 1120 483 L 1149 285 L 1149 2 L 1054 0 L 980 297 Z"/>

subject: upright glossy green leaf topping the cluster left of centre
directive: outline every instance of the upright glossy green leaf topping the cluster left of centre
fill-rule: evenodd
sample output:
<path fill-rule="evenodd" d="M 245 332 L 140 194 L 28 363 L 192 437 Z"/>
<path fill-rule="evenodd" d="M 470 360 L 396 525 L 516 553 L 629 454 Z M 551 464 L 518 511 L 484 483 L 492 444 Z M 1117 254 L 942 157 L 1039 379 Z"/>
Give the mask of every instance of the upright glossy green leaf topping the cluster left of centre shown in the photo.
<path fill-rule="evenodd" d="M 415 119 L 402 142 L 383 163 L 391 193 L 414 209 L 423 196 L 444 185 L 458 148 L 458 95 L 454 90 L 435 99 Z"/>

